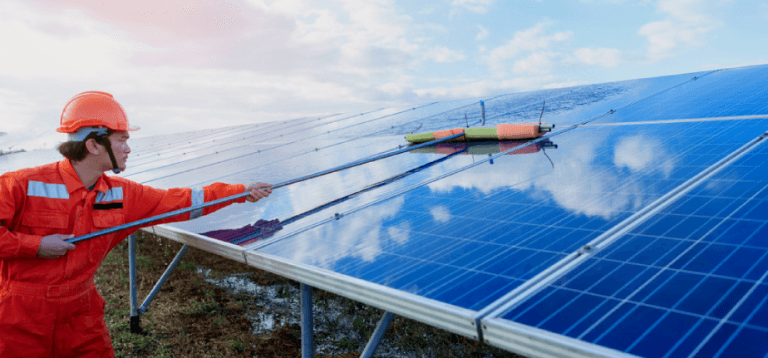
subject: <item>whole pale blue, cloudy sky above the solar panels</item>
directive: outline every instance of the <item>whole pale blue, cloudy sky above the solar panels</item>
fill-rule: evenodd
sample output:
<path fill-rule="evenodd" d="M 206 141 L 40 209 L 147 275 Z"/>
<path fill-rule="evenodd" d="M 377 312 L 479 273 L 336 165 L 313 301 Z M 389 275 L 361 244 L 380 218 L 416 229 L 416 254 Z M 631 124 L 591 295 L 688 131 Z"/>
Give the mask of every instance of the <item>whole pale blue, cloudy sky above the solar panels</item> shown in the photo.
<path fill-rule="evenodd" d="M 77 93 L 134 137 L 768 63 L 768 1 L 4 0 L 0 150 Z"/>

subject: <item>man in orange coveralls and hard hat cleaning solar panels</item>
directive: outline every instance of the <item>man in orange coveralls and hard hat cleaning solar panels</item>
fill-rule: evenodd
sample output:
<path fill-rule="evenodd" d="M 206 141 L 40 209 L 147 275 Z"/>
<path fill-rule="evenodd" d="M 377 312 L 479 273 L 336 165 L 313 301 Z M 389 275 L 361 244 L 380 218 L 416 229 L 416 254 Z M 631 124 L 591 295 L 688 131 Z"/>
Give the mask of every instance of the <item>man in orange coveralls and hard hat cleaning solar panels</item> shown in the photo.
<path fill-rule="evenodd" d="M 59 146 L 66 159 L 0 176 L 0 357 L 113 357 L 104 299 L 93 283 L 104 257 L 138 228 L 85 240 L 98 230 L 250 191 L 255 202 L 270 185 L 215 183 L 160 190 L 107 170 L 125 170 L 130 127 L 112 95 L 85 92 L 61 114 Z M 228 204 L 161 222 L 193 219 Z M 155 225 L 161 222 L 155 222 Z"/>

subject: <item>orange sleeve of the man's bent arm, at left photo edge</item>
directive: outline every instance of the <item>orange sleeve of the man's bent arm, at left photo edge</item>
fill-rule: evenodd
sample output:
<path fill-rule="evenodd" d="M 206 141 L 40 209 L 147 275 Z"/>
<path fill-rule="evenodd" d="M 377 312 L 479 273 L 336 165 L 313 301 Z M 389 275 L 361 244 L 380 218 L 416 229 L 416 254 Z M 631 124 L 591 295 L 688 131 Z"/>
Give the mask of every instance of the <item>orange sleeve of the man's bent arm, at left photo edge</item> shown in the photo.
<path fill-rule="evenodd" d="M 0 260 L 37 257 L 43 237 L 10 230 L 21 215 L 25 196 L 24 187 L 12 175 L 0 176 Z"/>

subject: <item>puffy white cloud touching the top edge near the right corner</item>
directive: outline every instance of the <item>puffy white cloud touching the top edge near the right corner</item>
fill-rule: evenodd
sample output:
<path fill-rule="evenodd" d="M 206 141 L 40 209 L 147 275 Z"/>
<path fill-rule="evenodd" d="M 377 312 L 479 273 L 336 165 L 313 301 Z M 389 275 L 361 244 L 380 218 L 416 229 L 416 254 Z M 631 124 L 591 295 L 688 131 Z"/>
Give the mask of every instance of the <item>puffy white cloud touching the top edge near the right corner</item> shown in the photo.
<path fill-rule="evenodd" d="M 667 18 L 647 23 L 638 34 L 648 40 L 646 56 L 652 62 L 674 56 L 680 46 L 701 46 L 721 22 L 705 11 L 704 0 L 660 0 L 658 12 Z"/>

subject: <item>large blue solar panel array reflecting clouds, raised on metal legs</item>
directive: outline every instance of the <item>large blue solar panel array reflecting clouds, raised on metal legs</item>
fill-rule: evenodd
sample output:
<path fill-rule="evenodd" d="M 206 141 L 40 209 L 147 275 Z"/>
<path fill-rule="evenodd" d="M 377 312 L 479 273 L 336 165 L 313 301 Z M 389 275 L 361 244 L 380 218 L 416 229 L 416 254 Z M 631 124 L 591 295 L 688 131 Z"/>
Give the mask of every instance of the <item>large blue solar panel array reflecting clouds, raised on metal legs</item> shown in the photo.
<path fill-rule="evenodd" d="M 407 152 L 158 233 L 523 354 L 762 357 L 766 79 L 756 66 L 141 138 L 123 176 L 278 183 L 481 126 L 481 100 L 485 126 L 537 121 L 546 101 L 542 141 Z"/>

